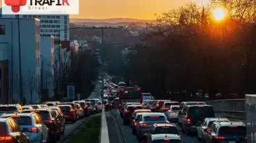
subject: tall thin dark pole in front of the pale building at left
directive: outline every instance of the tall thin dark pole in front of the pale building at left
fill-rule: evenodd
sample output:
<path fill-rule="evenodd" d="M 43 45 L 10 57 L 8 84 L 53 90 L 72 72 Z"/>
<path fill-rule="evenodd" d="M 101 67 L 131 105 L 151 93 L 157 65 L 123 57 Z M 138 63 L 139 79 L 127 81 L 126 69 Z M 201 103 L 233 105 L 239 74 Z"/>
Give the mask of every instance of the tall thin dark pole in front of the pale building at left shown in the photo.
<path fill-rule="evenodd" d="M 22 70 L 21 70 L 21 47 L 20 47 L 20 14 L 18 16 L 18 67 L 19 67 L 19 85 L 20 85 L 20 101 L 23 100 L 23 86 L 22 86 Z"/>

